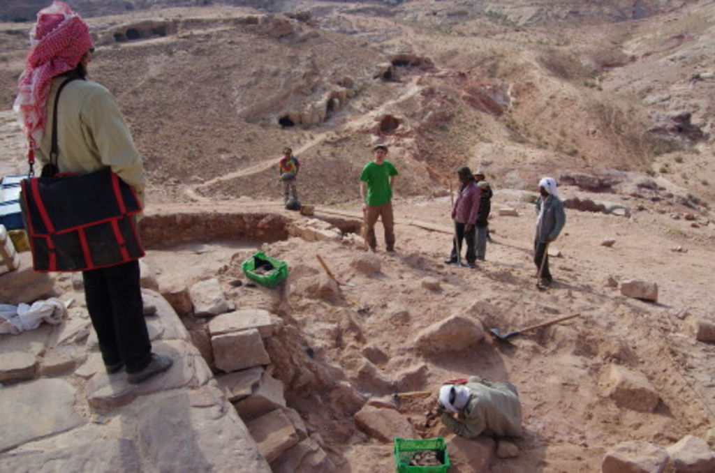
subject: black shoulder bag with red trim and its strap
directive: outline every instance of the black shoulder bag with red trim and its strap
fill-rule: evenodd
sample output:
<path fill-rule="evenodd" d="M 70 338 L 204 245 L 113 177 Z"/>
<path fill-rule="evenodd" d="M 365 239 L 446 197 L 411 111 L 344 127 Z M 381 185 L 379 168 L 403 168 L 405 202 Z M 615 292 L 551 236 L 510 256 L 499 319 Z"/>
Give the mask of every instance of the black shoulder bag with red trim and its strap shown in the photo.
<path fill-rule="evenodd" d="M 112 169 L 61 174 L 57 166 L 57 105 L 69 77 L 57 89 L 52 114 L 50 162 L 41 176 L 21 181 L 20 204 L 35 271 L 77 272 L 115 266 L 144 256 L 135 214 L 136 194 Z M 71 152 L 71 150 L 66 150 Z"/>

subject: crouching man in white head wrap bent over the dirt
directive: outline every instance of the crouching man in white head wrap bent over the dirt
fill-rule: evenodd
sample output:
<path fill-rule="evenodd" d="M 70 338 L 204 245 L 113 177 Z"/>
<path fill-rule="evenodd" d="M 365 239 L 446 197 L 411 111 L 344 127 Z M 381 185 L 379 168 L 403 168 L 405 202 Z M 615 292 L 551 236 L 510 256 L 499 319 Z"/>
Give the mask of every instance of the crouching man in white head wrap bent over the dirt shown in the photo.
<path fill-rule="evenodd" d="M 521 403 L 513 384 L 478 376 L 466 381 L 440 388 L 440 420 L 448 429 L 466 438 L 521 435 Z"/>

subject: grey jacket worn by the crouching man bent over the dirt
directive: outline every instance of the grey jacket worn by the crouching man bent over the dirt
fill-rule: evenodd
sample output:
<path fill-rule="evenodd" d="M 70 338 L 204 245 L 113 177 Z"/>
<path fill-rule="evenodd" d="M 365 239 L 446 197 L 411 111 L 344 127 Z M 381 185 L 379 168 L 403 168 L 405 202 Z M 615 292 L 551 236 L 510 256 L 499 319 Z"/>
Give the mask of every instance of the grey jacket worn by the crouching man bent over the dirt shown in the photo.
<path fill-rule="evenodd" d="M 446 412 L 440 416 L 448 429 L 466 438 L 479 434 L 499 437 L 521 435 L 521 403 L 513 384 L 490 382 L 474 376 L 465 386 L 472 394 L 457 418 Z"/>

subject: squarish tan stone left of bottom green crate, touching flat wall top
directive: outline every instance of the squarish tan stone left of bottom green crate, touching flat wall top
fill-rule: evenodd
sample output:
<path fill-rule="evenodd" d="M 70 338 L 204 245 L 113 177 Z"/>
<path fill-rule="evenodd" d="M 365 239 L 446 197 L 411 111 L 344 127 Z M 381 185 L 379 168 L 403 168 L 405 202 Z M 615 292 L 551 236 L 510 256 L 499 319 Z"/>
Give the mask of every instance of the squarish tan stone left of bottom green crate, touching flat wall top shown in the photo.
<path fill-rule="evenodd" d="M 300 441 L 293 424 L 281 409 L 275 409 L 247 422 L 246 427 L 267 462 L 277 459 L 285 450 Z"/>

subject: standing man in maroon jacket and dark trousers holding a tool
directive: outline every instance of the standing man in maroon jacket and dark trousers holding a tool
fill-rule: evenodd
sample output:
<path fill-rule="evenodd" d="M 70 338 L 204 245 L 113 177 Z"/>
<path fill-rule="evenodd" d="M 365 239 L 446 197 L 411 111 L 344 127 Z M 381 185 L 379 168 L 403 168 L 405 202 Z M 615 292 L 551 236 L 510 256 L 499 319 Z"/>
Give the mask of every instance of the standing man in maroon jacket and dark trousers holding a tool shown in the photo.
<path fill-rule="evenodd" d="M 460 181 L 459 195 L 454 202 L 452 219 L 454 220 L 455 238 L 452 244 L 452 254 L 445 261 L 447 264 L 456 263 L 461 253 L 462 241 L 467 241 L 467 266 L 475 268 L 475 231 L 474 224 L 479 214 L 479 187 L 474 181 L 472 171 L 467 166 L 457 169 Z"/>

